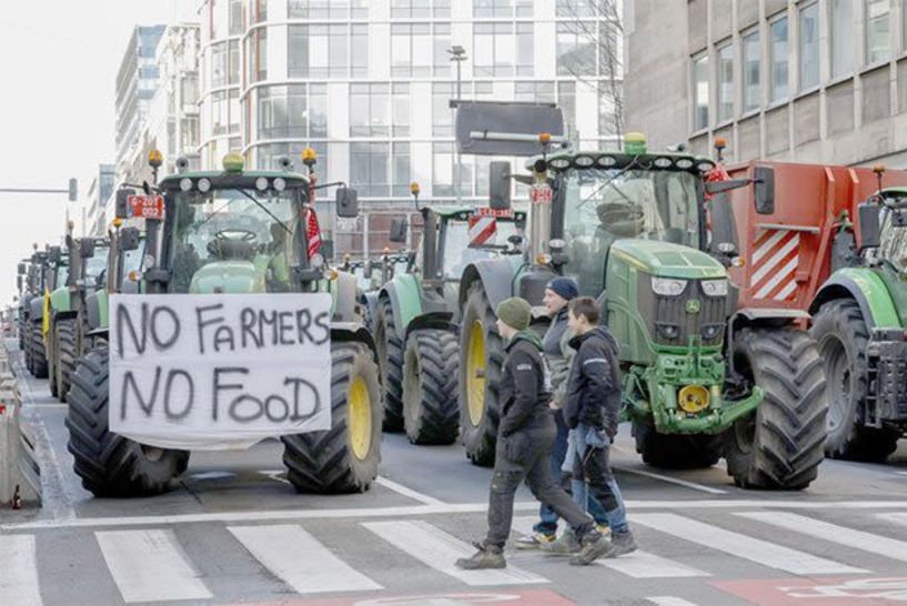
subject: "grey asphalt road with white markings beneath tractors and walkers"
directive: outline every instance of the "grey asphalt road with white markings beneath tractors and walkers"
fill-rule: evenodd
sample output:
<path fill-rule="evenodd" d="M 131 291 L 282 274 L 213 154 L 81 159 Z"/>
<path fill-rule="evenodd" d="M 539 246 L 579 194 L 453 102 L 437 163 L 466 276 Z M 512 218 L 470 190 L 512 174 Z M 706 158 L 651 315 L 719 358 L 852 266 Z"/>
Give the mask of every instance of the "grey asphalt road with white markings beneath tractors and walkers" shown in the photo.
<path fill-rule="evenodd" d="M 17 354 L 18 355 L 18 354 Z M 453 559 L 485 531 L 490 471 L 458 446 L 385 435 L 361 495 L 298 495 L 281 445 L 193 454 L 163 496 L 93 498 L 72 473 L 65 406 L 30 376 L 46 506 L 0 511 L 0 605 L 894 604 L 907 602 L 907 443 L 886 465 L 826 461 L 802 493 L 734 487 L 723 465 L 614 462 L 641 552 L 587 568 L 508 551 L 506 570 Z M 537 504 L 517 497 L 514 537 Z"/>

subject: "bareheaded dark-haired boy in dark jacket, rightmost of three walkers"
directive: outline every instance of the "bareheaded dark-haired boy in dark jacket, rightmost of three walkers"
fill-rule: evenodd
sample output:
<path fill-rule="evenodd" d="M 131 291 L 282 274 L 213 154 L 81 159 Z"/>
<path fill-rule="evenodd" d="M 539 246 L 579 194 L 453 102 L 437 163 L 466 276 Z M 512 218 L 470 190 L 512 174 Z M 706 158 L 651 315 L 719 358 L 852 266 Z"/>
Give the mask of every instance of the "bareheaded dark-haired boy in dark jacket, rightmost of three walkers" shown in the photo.
<path fill-rule="evenodd" d="M 576 447 L 573 477 L 585 481 L 604 505 L 611 526 L 605 557 L 616 557 L 636 551 L 636 541 L 608 463 L 621 420 L 619 347 L 608 330 L 598 325 L 599 315 L 598 304 L 589 296 L 570 302 L 567 323 L 576 335 L 570 345 L 576 355 L 567 380 L 564 416 Z"/>

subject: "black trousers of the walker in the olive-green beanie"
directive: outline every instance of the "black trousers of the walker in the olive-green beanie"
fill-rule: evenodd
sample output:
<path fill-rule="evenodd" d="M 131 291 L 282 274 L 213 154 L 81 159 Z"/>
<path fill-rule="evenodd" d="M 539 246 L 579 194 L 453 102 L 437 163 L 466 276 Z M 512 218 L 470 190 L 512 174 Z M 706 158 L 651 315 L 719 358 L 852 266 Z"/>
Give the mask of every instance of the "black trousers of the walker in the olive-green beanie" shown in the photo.
<path fill-rule="evenodd" d="M 525 479 L 532 494 L 550 506 L 570 524 L 577 537 L 595 527 L 595 522 L 573 502 L 570 494 L 557 485 L 551 473 L 551 451 L 554 444 L 554 426 L 545 430 L 520 432 L 515 461 L 508 456 L 505 440 L 498 436 L 497 456 L 494 462 L 491 494 L 488 496 L 488 535 L 485 545 L 504 547 L 513 524 L 513 501 L 516 488 Z M 512 453 L 513 454 L 513 451 Z"/>

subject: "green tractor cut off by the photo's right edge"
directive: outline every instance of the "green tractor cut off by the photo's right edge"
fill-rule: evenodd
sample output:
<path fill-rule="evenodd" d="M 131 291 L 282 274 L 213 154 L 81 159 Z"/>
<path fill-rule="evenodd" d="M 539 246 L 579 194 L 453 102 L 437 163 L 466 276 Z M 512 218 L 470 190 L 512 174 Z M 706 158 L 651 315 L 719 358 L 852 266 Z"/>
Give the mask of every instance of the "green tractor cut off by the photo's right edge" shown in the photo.
<path fill-rule="evenodd" d="M 836 264 L 849 266 L 836 267 L 810 307 L 834 458 L 885 461 L 907 432 L 907 189 L 880 185 L 858 208 L 858 254 Z"/>

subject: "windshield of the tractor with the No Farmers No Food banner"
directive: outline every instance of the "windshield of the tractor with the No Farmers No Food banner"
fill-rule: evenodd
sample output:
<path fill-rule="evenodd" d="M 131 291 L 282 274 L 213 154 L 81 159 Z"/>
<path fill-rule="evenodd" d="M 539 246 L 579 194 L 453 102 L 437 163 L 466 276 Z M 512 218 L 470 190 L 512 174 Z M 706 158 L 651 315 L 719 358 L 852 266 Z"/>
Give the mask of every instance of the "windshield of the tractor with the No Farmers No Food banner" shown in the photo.
<path fill-rule="evenodd" d="M 244 276 L 269 292 L 290 290 L 300 264 L 296 193 L 249 189 L 175 194 L 169 240 L 175 292 L 202 292 L 204 276 Z M 251 286 L 250 286 L 251 287 Z"/>

